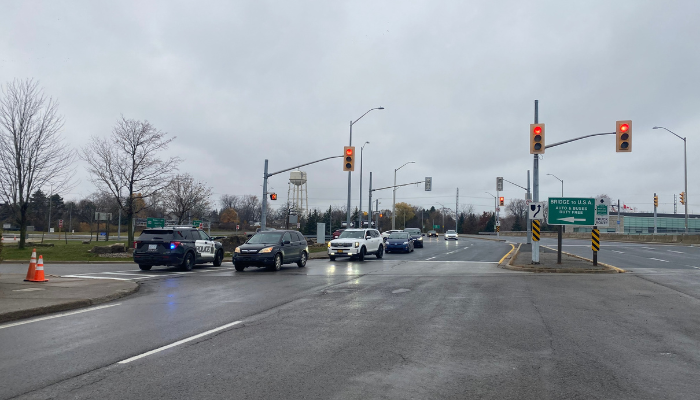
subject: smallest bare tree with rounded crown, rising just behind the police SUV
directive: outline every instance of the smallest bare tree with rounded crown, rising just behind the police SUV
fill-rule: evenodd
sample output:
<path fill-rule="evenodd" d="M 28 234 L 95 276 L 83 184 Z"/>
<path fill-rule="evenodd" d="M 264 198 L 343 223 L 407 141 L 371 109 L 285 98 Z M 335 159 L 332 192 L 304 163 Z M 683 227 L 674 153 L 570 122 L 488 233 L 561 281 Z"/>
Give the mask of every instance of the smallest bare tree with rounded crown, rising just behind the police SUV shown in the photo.
<path fill-rule="evenodd" d="M 211 188 L 196 182 L 192 175 L 176 175 L 163 191 L 165 209 L 177 217 L 181 224 L 185 215 L 195 209 L 208 210 Z"/>

